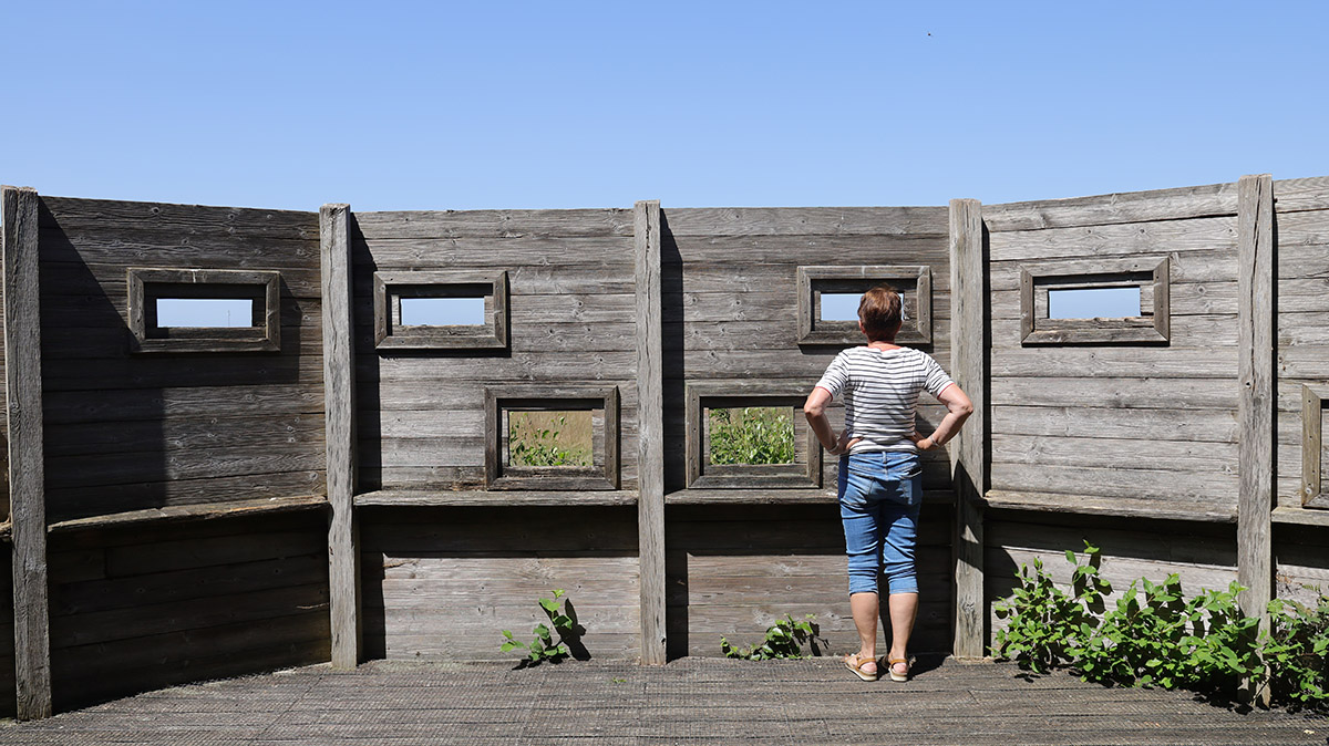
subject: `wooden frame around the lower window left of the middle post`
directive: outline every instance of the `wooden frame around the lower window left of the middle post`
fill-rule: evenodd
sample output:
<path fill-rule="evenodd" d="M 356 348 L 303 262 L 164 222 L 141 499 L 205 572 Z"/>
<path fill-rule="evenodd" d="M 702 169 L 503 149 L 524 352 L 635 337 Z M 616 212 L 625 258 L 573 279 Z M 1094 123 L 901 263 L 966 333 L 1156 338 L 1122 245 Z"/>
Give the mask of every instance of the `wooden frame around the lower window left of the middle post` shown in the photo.
<path fill-rule="evenodd" d="M 502 461 L 502 413 L 506 409 L 566 411 L 603 409 L 605 443 L 599 466 L 506 466 Z M 618 386 L 485 388 L 485 488 L 541 491 L 618 490 Z"/>

